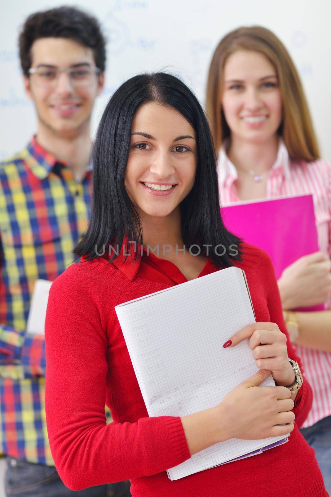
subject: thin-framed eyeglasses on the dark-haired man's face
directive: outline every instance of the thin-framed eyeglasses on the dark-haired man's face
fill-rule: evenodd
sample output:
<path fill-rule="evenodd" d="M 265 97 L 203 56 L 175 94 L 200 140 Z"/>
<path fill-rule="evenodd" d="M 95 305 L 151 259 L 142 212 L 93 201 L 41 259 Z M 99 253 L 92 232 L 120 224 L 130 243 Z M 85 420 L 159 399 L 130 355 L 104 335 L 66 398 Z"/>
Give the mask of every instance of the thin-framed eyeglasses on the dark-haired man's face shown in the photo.
<path fill-rule="evenodd" d="M 57 69 L 49 67 L 30 68 L 29 74 L 33 75 L 38 86 L 54 88 L 60 74 L 66 73 L 70 83 L 75 88 L 87 87 L 93 84 L 94 76 L 101 73 L 97 67 L 69 67 L 68 69 Z"/>

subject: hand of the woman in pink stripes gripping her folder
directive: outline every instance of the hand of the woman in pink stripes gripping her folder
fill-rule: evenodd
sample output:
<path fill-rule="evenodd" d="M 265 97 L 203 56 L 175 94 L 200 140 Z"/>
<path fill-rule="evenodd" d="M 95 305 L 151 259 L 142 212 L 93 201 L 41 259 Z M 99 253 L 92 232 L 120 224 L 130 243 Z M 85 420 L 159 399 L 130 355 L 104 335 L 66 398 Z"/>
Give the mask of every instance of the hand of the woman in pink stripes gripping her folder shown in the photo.
<path fill-rule="evenodd" d="M 324 304 L 331 296 L 331 260 L 323 252 L 300 257 L 283 270 L 278 288 L 283 309 Z"/>

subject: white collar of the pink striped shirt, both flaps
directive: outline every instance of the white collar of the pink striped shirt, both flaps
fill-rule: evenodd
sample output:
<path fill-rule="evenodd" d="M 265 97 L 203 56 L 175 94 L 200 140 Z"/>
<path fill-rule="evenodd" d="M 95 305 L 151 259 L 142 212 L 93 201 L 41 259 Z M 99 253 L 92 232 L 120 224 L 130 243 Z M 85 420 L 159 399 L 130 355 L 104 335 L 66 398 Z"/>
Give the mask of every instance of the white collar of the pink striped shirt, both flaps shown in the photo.
<path fill-rule="evenodd" d="M 219 183 L 221 185 L 225 184 L 225 182 L 227 183 L 227 185 L 231 185 L 238 178 L 237 169 L 226 154 L 227 145 L 228 142 L 223 145 L 218 157 L 218 176 Z M 279 139 L 276 161 L 273 164 L 271 170 L 281 170 L 284 173 L 285 179 L 290 179 L 289 156 L 286 146 L 281 138 Z"/>

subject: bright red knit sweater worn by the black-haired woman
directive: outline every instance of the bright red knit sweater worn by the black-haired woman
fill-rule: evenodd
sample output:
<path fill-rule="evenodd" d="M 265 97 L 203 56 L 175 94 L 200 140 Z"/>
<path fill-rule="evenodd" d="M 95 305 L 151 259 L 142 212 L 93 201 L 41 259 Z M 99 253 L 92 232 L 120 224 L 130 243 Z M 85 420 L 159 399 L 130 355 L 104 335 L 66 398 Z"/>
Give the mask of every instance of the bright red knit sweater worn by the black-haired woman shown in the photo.
<path fill-rule="evenodd" d="M 286 333 L 269 256 L 243 244 L 256 319 Z M 215 271 L 208 260 L 199 276 Z M 314 450 L 299 432 L 312 403 L 300 389 L 288 443 L 171 482 L 165 470 L 190 457 L 179 417 L 148 417 L 114 306 L 186 281 L 150 254 L 135 264 L 101 257 L 71 265 L 52 285 L 47 310 L 46 420 L 57 471 L 69 489 L 131 480 L 133 497 L 321 497 Z M 288 356 L 297 360 L 288 340 Z M 299 361 L 300 362 L 300 361 Z M 105 404 L 114 422 L 106 424 Z"/>

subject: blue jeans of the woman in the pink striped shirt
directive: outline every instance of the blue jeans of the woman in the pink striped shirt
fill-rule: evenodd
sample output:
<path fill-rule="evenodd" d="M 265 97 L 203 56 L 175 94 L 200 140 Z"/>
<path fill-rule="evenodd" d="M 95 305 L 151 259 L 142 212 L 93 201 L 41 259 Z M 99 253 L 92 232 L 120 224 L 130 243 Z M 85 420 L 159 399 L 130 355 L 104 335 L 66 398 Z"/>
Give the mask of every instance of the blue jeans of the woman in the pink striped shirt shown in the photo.
<path fill-rule="evenodd" d="M 315 450 L 325 488 L 331 494 L 331 416 L 321 419 L 309 428 L 302 428 L 301 433 Z"/>

